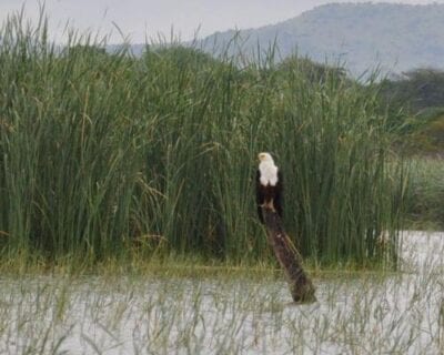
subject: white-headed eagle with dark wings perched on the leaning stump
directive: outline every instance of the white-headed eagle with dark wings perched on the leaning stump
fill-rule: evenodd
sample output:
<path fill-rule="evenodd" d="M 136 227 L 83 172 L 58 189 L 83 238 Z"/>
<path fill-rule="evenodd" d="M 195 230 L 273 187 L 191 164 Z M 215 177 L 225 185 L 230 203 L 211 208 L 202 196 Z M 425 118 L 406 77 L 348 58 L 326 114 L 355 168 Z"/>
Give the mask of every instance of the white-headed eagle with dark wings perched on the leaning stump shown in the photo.
<path fill-rule="evenodd" d="M 278 212 L 282 217 L 282 173 L 270 153 L 259 153 L 256 172 L 256 202 L 259 220 L 264 223 L 262 207 Z"/>

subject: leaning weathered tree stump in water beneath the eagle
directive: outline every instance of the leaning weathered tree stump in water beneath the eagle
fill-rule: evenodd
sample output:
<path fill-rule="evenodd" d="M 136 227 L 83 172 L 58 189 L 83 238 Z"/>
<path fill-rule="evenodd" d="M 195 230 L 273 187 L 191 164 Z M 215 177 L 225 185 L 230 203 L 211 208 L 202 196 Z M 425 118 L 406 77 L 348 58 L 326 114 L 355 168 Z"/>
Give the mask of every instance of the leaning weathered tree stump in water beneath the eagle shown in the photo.
<path fill-rule="evenodd" d="M 302 256 L 286 235 L 281 217 L 270 207 L 262 207 L 268 240 L 285 272 L 290 292 L 296 303 L 315 302 L 314 286 L 302 267 Z"/>

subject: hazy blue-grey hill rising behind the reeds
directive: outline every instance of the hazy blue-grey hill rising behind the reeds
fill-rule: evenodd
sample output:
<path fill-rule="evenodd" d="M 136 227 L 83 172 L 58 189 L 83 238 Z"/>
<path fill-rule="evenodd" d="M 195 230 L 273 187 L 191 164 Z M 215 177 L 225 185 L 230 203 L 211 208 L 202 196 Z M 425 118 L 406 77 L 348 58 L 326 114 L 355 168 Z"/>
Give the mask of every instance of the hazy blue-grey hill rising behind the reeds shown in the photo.
<path fill-rule="evenodd" d="M 216 32 L 206 51 L 228 43 L 236 31 Z M 418 67 L 444 69 L 444 4 L 335 3 L 272 26 L 240 31 L 243 50 L 268 48 L 276 39 L 283 58 L 300 55 L 345 62 L 352 74 L 381 65 L 384 72 Z"/>

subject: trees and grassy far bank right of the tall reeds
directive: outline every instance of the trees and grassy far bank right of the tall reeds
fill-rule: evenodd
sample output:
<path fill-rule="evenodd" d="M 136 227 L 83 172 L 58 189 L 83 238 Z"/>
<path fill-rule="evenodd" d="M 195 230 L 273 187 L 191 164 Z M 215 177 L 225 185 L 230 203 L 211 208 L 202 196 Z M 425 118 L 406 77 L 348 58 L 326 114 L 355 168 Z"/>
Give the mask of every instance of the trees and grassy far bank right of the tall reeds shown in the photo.
<path fill-rule="evenodd" d="M 408 229 L 444 227 L 444 72 L 415 69 L 381 82 L 394 149 L 408 163 Z"/>

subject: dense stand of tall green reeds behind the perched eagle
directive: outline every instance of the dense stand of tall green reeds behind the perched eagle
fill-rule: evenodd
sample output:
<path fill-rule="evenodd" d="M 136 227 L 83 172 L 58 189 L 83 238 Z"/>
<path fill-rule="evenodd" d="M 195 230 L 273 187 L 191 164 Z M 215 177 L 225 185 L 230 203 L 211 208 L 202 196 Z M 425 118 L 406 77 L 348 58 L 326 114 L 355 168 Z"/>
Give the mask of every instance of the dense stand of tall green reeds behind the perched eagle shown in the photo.
<path fill-rule="evenodd" d="M 239 67 L 179 45 L 107 53 L 75 33 L 56 48 L 44 19 L 11 17 L 0 37 L 8 257 L 268 260 L 253 197 L 260 151 L 282 166 L 285 226 L 304 255 L 395 257 L 403 168 L 386 166 L 371 83 L 316 77 L 297 59 L 276 65 L 273 49 Z"/>

